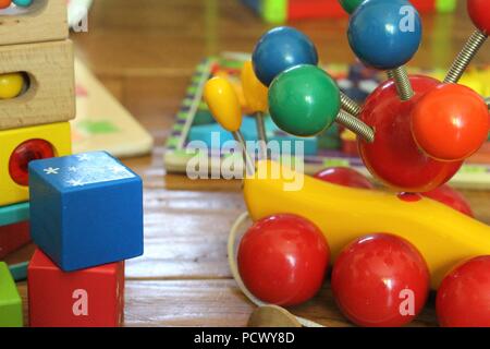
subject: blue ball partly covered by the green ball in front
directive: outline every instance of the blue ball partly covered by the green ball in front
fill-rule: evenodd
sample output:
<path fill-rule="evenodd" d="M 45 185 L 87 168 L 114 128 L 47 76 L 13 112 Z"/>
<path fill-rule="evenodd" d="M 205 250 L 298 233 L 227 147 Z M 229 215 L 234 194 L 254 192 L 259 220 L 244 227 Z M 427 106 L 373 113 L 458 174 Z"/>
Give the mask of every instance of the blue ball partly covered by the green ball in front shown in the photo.
<path fill-rule="evenodd" d="M 302 32 L 280 26 L 267 32 L 252 56 L 258 80 L 269 86 L 283 71 L 299 64 L 318 64 L 318 53 L 311 40 Z"/>

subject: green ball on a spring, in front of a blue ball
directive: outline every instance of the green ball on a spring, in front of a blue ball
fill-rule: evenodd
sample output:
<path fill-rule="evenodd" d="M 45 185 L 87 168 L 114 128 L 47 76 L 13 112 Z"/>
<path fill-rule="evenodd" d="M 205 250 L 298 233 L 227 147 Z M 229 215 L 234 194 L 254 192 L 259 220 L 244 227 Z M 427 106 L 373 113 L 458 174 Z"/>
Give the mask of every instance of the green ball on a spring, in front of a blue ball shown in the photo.
<path fill-rule="evenodd" d="M 269 87 L 269 112 L 284 132 L 314 136 L 335 120 L 340 91 L 316 65 L 296 65 L 278 75 Z"/>

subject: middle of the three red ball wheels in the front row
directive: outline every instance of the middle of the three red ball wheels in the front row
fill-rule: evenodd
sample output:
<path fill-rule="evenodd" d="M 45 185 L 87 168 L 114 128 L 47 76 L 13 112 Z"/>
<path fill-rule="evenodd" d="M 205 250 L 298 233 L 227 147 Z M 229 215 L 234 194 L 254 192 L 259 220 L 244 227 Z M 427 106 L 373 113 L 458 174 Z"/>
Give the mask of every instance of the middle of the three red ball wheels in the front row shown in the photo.
<path fill-rule="evenodd" d="M 342 313 L 366 327 L 412 322 L 429 293 L 429 270 L 420 253 L 392 234 L 372 234 L 348 244 L 332 272 L 332 291 Z"/>

